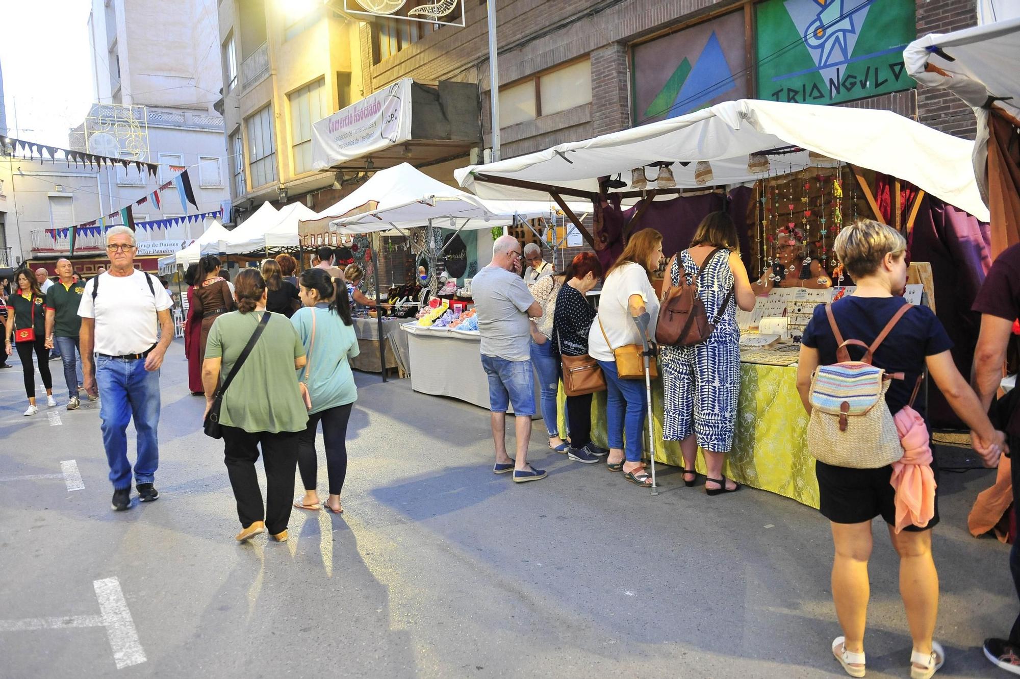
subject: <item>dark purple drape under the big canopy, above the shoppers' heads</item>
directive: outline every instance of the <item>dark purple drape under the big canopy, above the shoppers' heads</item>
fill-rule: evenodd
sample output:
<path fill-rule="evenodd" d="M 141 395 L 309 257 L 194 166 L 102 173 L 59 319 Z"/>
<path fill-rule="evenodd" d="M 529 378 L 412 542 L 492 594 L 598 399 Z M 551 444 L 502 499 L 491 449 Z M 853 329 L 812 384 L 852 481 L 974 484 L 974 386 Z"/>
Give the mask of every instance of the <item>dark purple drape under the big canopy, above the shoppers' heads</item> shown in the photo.
<path fill-rule="evenodd" d="M 748 208 L 754 192 L 748 187 L 737 187 L 727 197 L 720 194 L 704 196 L 683 196 L 668 201 L 652 201 L 633 233 L 654 228 L 662 233 L 662 252 L 667 258 L 687 247 L 695 236 L 698 224 L 708 214 L 725 210 L 736 225 L 741 242 L 741 254 L 745 262 L 750 261 L 751 245 L 748 239 Z M 623 252 L 623 225 L 633 215 L 641 204 L 627 210 L 620 210 L 618 202 L 611 203 L 604 210 L 601 233 L 605 236 L 606 247 L 597 252 L 603 267 L 608 268 Z"/>

